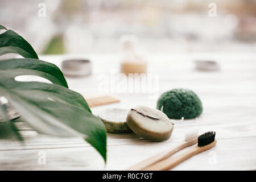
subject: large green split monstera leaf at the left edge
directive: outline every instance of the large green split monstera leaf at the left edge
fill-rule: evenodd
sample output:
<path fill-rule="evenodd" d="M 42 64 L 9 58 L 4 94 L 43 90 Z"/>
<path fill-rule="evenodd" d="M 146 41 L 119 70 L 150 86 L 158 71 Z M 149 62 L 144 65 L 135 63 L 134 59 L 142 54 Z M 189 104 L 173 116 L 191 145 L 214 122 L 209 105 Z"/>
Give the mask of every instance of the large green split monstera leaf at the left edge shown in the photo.
<path fill-rule="evenodd" d="M 26 40 L 8 31 L 3 33 L 5 36 L 0 35 L 0 55 L 19 53 L 23 57 L 38 57 Z M 11 35 L 14 35 L 13 38 Z M 20 42 L 12 43 L 13 40 Z M 22 75 L 46 78 L 52 84 L 15 80 Z M 106 162 L 104 123 L 92 114 L 81 94 L 68 89 L 63 73 L 55 64 L 27 58 L 1 60 L 0 96 L 7 98 L 9 104 L 39 133 L 56 137 L 82 137 L 96 148 Z M 1 105 L 0 115 L 7 118 Z M 9 138 L 11 131 L 22 140 L 14 121 L 0 123 L 1 138 Z"/>

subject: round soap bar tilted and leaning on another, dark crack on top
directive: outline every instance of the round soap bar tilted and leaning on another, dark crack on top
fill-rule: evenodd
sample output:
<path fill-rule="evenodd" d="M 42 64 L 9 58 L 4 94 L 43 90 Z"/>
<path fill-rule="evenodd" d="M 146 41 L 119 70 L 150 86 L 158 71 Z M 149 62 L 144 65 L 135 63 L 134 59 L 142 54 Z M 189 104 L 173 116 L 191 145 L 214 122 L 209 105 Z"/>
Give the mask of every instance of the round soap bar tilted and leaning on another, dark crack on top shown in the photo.
<path fill-rule="evenodd" d="M 166 114 L 146 106 L 131 109 L 126 122 L 139 137 L 157 142 L 170 138 L 174 129 Z"/>

